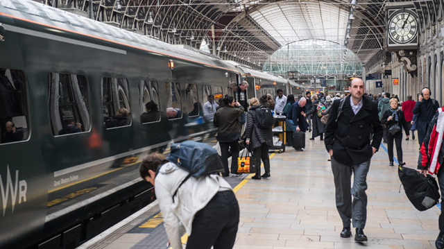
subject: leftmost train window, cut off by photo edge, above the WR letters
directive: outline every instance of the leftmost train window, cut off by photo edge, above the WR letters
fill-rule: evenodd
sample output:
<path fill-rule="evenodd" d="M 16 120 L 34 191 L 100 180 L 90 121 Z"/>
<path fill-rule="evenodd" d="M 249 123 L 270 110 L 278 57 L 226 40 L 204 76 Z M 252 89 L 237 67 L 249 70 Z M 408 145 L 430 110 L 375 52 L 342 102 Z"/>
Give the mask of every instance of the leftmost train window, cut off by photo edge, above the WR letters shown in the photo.
<path fill-rule="evenodd" d="M 24 71 L 0 69 L 0 143 L 29 138 Z"/>

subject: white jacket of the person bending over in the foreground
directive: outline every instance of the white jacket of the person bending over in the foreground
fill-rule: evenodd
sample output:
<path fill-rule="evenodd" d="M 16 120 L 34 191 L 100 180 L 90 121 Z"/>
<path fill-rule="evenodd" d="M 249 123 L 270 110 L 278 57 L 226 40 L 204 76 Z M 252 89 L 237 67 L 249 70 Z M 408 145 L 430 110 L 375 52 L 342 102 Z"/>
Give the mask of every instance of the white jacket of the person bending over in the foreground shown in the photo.
<path fill-rule="evenodd" d="M 178 189 L 188 173 L 176 164 L 167 162 L 155 177 L 155 196 L 159 201 L 164 227 L 173 249 L 182 249 L 180 237 L 184 232 L 191 235 L 196 213 L 210 203 L 219 190 L 232 190 L 230 184 L 219 175 L 191 177 Z M 176 189 L 178 192 L 173 202 L 172 196 Z"/>

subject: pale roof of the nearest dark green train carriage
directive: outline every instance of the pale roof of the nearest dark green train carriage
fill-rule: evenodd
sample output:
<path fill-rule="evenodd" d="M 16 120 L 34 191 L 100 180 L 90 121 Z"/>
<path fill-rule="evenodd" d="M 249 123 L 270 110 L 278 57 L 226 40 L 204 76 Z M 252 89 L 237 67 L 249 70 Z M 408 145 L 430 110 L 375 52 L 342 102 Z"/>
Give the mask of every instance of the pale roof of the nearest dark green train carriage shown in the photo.
<path fill-rule="evenodd" d="M 80 35 L 86 38 L 93 38 L 97 42 L 110 42 L 117 46 L 126 46 L 128 49 L 139 49 L 148 53 L 187 60 L 207 67 L 238 72 L 234 65 L 230 65 L 223 60 L 187 49 L 180 49 L 145 35 L 139 35 L 86 17 L 80 17 L 79 15 L 35 1 L 0 0 L 0 20 L 2 20 L 3 24 L 8 24 L 8 17 L 44 26 L 46 31 L 54 35 Z"/>

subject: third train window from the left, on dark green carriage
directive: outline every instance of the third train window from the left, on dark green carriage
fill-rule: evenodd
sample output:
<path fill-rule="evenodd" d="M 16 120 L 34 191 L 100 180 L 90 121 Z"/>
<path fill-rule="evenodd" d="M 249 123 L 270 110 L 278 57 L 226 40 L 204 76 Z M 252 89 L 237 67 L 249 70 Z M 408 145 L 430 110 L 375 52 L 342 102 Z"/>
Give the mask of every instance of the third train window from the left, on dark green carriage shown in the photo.
<path fill-rule="evenodd" d="M 103 77 L 102 110 L 105 128 L 131 125 L 130 95 L 128 80 Z"/>

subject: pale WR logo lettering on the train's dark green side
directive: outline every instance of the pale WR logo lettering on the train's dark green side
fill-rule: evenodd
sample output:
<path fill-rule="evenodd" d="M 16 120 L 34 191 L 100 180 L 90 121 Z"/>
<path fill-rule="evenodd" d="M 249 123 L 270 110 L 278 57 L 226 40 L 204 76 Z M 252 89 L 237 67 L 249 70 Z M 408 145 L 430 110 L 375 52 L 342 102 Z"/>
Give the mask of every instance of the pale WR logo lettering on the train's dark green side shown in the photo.
<path fill-rule="evenodd" d="M 17 189 L 18 188 L 18 189 Z M 23 202 L 26 203 L 26 191 L 28 189 L 28 185 L 26 184 L 26 180 L 19 181 L 19 171 L 15 171 L 15 181 L 12 182 L 11 174 L 9 171 L 9 165 L 7 166 L 6 171 L 6 186 L 3 184 L 3 178 L 0 175 L 0 190 L 1 190 L 1 201 L 3 203 L 3 217 L 6 213 L 6 206 L 8 205 L 9 194 L 11 196 L 11 206 L 12 212 L 14 213 L 14 207 L 17 200 L 17 191 L 19 192 L 19 204 Z M 6 190 L 6 191 L 5 191 Z"/>

